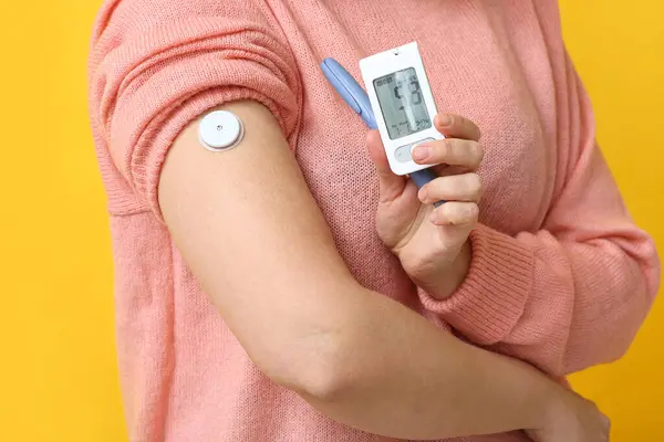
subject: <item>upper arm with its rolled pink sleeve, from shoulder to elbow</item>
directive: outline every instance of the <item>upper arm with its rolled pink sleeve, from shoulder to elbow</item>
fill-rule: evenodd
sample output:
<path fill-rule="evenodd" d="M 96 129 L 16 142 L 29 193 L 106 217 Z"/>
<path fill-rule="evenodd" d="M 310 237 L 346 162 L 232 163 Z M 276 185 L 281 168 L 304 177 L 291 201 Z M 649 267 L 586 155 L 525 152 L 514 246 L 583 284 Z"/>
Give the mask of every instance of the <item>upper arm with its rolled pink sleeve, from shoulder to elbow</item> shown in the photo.
<path fill-rule="evenodd" d="M 279 23 L 262 1 L 110 0 L 92 40 L 91 120 L 113 201 L 165 218 L 259 366 L 302 372 L 276 365 L 324 352 L 351 293 L 340 287 L 356 286 L 289 149 L 301 84 Z M 212 154 L 196 119 L 226 105 L 246 137 Z"/>

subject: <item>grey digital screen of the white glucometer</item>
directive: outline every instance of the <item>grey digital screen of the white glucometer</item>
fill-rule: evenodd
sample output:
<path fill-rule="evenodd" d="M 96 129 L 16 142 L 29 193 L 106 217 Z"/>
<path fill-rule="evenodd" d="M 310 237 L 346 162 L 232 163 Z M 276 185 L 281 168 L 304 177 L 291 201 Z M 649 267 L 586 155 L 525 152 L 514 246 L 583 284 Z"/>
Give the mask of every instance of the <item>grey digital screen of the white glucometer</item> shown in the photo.
<path fill-rule="evenodd" d="M 373 81 L 390 139 L 398 139 L 432 127 L 415 67 L 393 72 Z"/>

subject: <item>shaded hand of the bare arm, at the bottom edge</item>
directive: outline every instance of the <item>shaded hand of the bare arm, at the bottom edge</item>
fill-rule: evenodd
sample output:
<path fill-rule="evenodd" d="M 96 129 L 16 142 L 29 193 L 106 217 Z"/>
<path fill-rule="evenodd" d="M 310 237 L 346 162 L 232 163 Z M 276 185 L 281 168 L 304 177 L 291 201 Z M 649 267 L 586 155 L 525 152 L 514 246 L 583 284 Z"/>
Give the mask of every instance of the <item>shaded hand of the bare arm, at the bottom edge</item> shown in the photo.
<path fill-rule="evenodd" d="M 609 442 L 611 421 L 596 406 L 564 390 L 541 430 L 526 433 L 536 442 Z"/>

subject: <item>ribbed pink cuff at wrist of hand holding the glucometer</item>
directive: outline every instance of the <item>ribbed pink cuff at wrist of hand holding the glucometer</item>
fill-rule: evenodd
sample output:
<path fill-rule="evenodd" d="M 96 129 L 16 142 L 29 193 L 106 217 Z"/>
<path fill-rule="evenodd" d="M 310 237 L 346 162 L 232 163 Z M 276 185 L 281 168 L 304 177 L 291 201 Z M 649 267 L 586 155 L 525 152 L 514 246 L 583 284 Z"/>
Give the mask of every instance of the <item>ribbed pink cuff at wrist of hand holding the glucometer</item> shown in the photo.
<path fill-rule="evenodd" d="M 424 307 L 478 345 L 502 340 L 517 324 L 533 278 L 535 256 L 516 239 L 485 225 L 470 233 L 466 280 L 447 299 L 418 290 Z"/>

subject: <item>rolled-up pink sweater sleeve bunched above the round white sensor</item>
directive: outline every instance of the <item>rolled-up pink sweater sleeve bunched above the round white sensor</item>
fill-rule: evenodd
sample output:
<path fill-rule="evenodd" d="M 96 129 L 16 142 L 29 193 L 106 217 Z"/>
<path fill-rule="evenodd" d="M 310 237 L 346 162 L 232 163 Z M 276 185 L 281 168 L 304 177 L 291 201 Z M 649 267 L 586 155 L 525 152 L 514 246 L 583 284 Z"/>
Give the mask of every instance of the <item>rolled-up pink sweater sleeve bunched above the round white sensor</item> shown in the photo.
<path fill-rule="evenodd" d="M 93 29 L 89 83 L 102 173 L 113 169 L 125 180 L 117 187 L 131 189 L 137 204 L 157 215 L 168 148 L 206 110 L 230 101 L 260 102 L 294 146 L 300 80 L 262 2 L 107 0 Z"/>

